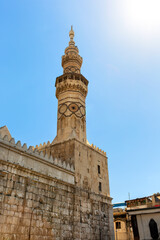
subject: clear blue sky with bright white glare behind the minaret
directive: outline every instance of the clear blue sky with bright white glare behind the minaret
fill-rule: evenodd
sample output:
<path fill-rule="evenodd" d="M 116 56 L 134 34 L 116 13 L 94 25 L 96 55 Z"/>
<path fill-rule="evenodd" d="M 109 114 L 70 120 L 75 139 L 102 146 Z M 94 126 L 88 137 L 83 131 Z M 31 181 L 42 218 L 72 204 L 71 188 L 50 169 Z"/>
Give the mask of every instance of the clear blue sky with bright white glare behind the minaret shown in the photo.
<path fill-rule="evenodd" d="M 107 152 L 113 202 L 160 191 L 158 0 L 1 0 L 0 126 L 56 136 L 55 79 L 73 25 L 89 80 L 87 137 Z"/>

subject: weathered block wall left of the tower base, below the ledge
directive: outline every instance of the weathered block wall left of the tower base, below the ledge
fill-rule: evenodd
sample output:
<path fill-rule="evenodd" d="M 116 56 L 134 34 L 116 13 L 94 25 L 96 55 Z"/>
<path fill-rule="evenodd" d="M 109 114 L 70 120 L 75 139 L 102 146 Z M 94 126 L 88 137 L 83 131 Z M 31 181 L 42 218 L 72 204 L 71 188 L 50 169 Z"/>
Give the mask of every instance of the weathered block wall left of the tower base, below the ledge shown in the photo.
<path fill-rule="evenodd" d="M 1 169 L 0 240 L 71 239 L 73 186 L 10 164 Z"/>

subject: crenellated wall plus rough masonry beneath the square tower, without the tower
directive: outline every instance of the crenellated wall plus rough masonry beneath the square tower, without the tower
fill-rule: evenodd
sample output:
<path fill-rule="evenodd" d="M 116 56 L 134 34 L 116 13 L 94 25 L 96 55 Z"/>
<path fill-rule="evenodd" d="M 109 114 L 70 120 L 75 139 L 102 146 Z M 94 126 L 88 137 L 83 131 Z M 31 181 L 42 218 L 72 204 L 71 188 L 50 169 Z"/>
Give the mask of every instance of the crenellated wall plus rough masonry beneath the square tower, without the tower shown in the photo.
<path fill-rule="evenodd" d="M 0 138 L 0 240 L 114 239 L 109 197 L 76 185 L 71 163 L 17 143 Z"/>

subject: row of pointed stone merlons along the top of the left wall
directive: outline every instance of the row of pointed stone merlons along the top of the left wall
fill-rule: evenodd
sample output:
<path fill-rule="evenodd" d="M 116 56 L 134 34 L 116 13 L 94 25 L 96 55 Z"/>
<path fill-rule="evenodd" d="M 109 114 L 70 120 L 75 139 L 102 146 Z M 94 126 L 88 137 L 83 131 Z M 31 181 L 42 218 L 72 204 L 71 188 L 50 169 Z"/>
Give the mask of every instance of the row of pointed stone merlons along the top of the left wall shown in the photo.
<path fill-rule="evenodd" d="M 56 167 L 59 168 L 63 168 L 67 171 L 71 171 L 74 172 L 74 166 L 73 164 L 70 163 L 66 163 L 65 161 L 62 161 L 61 159 L 58 158 L 53 158 L 52 155 L 48 154 L 48 153 L 43 153 L 43 151 L 40 150 L 40 148 L 38 149 L 37 147 L 34 148 L 33 146 L 29 146 L 27 148 L 27 144 L 24 143 L 23 145 L 21 144 L 21 141 L 17 141 L 15 143 L 15 139 L 11 138 L 9 140 L 8 136 L 5 135 L 4 137 L 1 136 L 0 134 L 0 143 L 3 143 L 5 145 L 8 145 L 9 147 L 12 147 L 16 150 L 19 150 L 25 154 L 28 154 L 32 157 L 36 157 L 39 158 L 43 161 L 45 161 L 46 163 L 51 163 L 53 165 L 55 165 Z M 50 145 L 50 142 L 47 143 L 48 145 Z M 47 144 L 45 144 L 45 146 L 47 146 Z M 8 159 L 7 159 L 8 161 Z M 20 164 L 20 163 L 19 163 Z"/>

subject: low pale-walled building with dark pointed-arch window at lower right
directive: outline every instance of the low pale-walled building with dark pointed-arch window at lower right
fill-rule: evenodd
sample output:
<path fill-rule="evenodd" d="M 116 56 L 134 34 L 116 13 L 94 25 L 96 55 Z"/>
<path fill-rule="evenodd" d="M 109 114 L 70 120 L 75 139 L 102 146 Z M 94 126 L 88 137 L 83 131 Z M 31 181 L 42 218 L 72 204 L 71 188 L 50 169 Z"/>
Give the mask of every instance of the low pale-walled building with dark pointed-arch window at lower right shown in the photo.
<path fill-rule="evenodd" d="M 126 201 L 134 239 L 160 239 L 160 194 Z"/>

